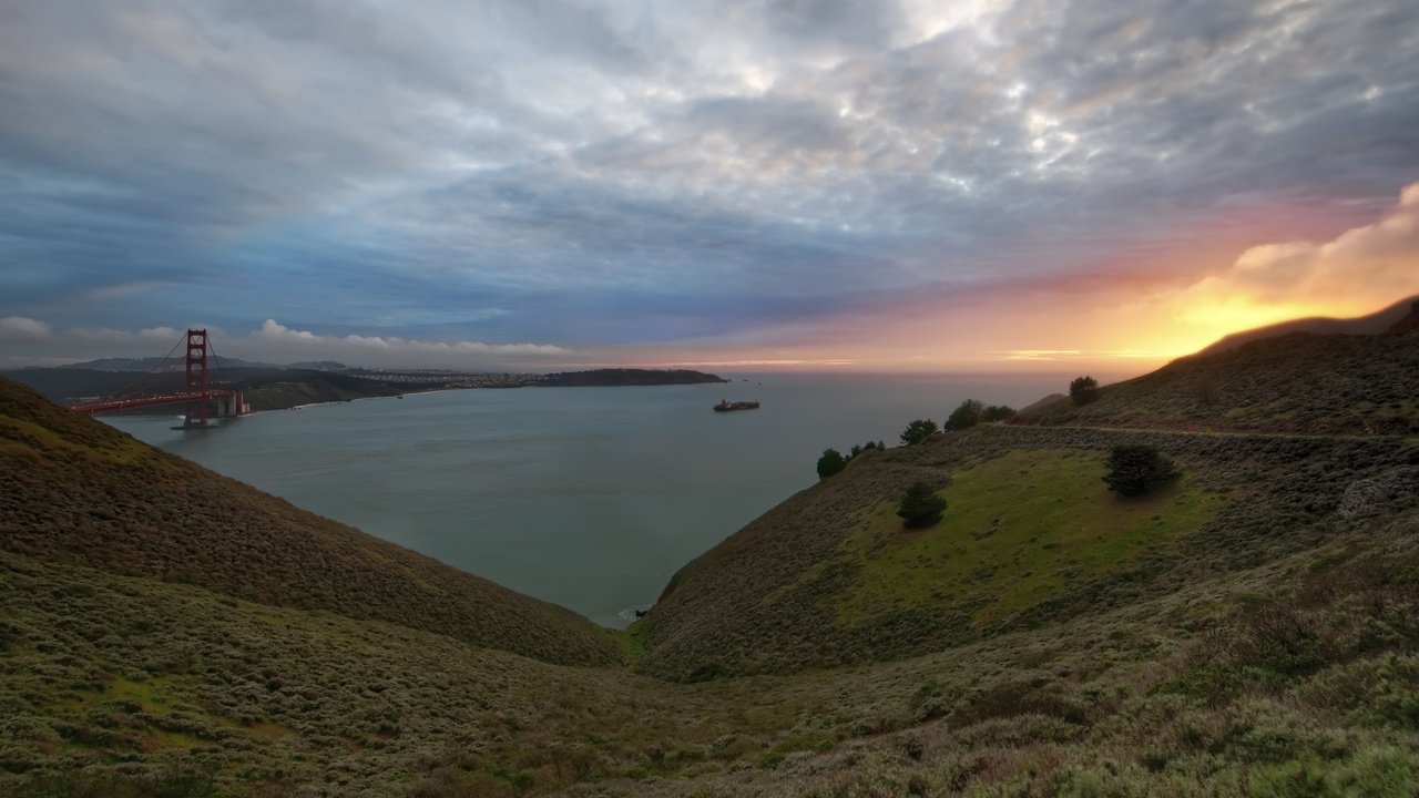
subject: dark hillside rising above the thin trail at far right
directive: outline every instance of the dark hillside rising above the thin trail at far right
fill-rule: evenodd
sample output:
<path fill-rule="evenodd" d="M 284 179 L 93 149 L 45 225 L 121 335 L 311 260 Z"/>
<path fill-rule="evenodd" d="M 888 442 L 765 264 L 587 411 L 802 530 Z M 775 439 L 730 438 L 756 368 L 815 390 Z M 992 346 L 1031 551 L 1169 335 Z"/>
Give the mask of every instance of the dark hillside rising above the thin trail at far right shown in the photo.
<path fill-rule="evenodd" d="M 1280 433 L 1419 434 L 1419 334 L 1253 341 L 1181 358 L 1101 389 L 1083 408 L 1054 402 L 1030 423 Z"/>

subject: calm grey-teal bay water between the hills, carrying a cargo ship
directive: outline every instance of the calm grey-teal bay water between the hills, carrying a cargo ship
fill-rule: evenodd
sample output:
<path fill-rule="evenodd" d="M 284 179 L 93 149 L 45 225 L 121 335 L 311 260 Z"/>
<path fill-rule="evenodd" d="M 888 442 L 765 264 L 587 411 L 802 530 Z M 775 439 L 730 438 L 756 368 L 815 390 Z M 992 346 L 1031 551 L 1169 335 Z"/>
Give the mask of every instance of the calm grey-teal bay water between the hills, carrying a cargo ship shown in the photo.
<path fill-rule="evenodd" d="M 729 376 L 729 375 L 725 375 Z M 1023 406 L 1071 375 L 736 375 L 524 388 L 114 426 L 298 507 L 620 628 L 684 564 L 816 481 L 826 447 L 897 443 L 962 399 Z M 715 413 L 722 398 L 758 410 Z"/>

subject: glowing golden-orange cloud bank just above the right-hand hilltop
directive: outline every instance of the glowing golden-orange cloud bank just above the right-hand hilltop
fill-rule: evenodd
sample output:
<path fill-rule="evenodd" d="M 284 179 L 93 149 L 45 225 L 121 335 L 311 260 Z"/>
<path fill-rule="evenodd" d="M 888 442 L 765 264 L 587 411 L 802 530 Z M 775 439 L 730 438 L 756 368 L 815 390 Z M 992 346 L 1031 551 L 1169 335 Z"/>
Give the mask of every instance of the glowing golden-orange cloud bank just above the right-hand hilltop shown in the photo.
<path fill-rule="evenodd" d="M 1405 187 L 1398 204 L 1372 224 L 1320 244 L 1252 247 L 1175 302 L 1189 319 L 1257 311 L 1291 318 L 1315 308 L 1358 315 L 1410 294 L 1419 294 L 1419 183 Z"/>

